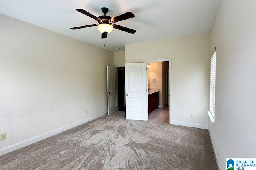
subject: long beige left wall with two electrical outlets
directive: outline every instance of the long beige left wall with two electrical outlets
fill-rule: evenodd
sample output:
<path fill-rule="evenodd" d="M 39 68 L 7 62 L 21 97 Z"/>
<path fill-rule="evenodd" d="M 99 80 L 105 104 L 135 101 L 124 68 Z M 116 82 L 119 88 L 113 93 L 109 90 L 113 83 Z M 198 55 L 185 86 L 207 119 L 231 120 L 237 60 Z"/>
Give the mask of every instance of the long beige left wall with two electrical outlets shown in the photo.
<path fill-rule="evenodd" d="M 105 57 L 104 49 L 2 14 L 0 21 L 0 133 L 7 137 L 0 149 L 106 113 L 113 52 Z"/>

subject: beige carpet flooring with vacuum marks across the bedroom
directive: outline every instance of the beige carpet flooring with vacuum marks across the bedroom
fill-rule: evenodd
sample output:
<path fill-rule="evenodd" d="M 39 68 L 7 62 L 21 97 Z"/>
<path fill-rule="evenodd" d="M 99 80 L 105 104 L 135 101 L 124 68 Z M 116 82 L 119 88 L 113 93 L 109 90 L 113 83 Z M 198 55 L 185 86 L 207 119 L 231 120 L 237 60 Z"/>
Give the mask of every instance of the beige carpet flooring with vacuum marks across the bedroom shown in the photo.
<path fill-rule="evenodd" d="M 0 169 L 217 169 L 207 130 L 124 116 L 104 116 L 0 156 Z"/>

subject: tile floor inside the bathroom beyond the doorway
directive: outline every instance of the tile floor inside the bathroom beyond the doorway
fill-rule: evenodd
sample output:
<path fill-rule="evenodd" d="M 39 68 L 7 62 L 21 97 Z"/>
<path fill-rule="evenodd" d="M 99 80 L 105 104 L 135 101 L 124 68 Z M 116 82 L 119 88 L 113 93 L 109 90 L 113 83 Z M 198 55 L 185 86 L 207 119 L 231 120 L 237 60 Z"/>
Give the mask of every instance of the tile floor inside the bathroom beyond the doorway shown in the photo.
<path fill-rule="evenodd" d="M 164 106 L 164 108 L 156 108 L 148 114 L 148 120 L 169 123 L 169 106 L 167 105 Z"/>

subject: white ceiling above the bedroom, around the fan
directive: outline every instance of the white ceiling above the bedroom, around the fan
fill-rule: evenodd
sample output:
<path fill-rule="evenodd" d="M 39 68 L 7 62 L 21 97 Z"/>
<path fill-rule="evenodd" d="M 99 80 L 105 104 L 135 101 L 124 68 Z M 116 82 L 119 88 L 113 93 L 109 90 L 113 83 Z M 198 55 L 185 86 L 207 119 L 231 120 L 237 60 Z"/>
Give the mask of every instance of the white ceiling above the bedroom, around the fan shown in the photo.
<path fill-rule="evenodd" d="M 106 39 L 107 49 L 123 51 L 128 44 L 209 32 L 219 3 L 220 0 L 1 0 L 0 13 L 104 48 L 97 27 L 70 29 L 97 23 L 75 9 L 97 17 L 103 15 L 102 7 L 109 8 L 107 15 L 111 17 L 130 11 L 135 18 L 117 24 L 135 29 L 136 33 L 114 29 Z"/>

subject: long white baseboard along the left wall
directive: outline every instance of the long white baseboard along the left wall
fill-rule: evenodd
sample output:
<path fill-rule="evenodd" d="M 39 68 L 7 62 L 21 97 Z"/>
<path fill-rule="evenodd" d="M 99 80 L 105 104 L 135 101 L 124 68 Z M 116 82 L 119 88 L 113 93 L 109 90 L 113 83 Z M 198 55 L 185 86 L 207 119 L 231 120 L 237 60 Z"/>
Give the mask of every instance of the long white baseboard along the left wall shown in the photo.
<path fill-rule="evenodd" d="M 94 120 L 94 119 L 98 119 L 99 117 L 102 117 L 102 116 L 106 115 L 107 113 L 108 113 L 108 112 L 101 113 L 101 114 L 96 115 L 96 116 L 94 116 L 94 117 L 90 117 L 90 118 L 88 118 L 88 119 L 84 119 L 84 120 L 82 120 L 82 121 L 78 121 L 78 122 L 76 122 L 76 123 L 72 123 L 72 124 L 70 124 L 70 125 L 66 125 L 66 126 L 61 127 L 61 128 L 59 128 L 59 129 L 55 129 L 55 130 L 53 130 L 53 131 L 44 133 L 44 134 L 42 134 L 42 135 L 38 135 L 38 136 L 36 136 L 36 137 L 27 139 L 27 140 L 25 140 L 25 141 L 16 143 L 16 144 L 14 144 L 14 145 L 10 145 L 10 146 L 5 147 L 5 148 L 3 148 L 3 149 L 0 149 L 0 156 L 1 156 L 1 155 L 4 155 L 4 154 L 6 154 L 6 153 L 12 152 L 12 151 L 14 151 L 14 150 L 20 149 L 20 148 L 22 148 L 22 147 L 26 147 L 26 146 L 28 146 L 28 145 L 30 145 L 30 144 L 32 144 L 32 143 L 41 141 L 41 140 L 43 140 L 43 139 L 46 139 L 46 138 L 48 138 L 48 137 L 51 137 L 51 136 L 53 136 L 53 135 L 56 135 L 56 134 L 61 133 L 61 132 L 63 132 L 63 131 L 66 131 L 66 130 L 68 130 L 68 129 L 71 129 L 71 128 L 73 128 L 73 127 L 82 125 L 82 124 L 87 123 L 87 122 L 89 122 L 89 121 L 92 121 L 92 120 Z"/>

